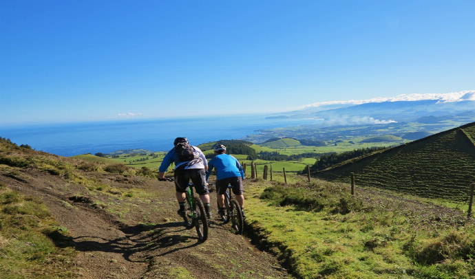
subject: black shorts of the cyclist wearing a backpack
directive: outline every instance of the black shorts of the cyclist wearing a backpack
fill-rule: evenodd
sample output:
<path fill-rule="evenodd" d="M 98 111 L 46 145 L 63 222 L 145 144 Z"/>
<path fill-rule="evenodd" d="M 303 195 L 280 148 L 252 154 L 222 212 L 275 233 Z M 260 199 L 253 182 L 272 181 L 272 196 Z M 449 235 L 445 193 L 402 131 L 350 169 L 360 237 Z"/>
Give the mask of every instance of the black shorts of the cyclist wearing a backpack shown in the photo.
<path fill-rule="evenodd" d="M 191 182 L 195 185 L 198 194 L 209 194 L 206 183 L 206 172 L 203 168 L 189 168 L 187 170 L 175 170 L 175 190 L 184 193 Z"/>

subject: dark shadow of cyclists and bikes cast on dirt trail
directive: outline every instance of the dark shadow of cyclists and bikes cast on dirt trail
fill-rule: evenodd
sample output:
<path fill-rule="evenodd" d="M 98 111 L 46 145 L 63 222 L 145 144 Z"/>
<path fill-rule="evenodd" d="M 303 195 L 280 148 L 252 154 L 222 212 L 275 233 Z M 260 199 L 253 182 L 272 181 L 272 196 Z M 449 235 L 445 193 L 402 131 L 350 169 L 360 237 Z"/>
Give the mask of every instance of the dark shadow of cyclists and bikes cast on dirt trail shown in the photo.
<path fill-rule="evenodd" d="M 182 227 L 182 230 L 170 230 Z M 72 238 L 55 231 L 48 234 L 57 247 L 74 247 L 80 252 L 107 252 L 123 254 L 130 262 L 145 262 L 153 256 L 163 256 L 188 249 L 200 244 L 197 236 L 186 236 L 180 232 L 186 231 L 182 222 L 164 223 L 158 225 L 136 225 L 120 229 L 125 236 L 115 239 L 105 239 L 98 236 L 78 236 Z M 187 243 L 193 242 L 190 245 Z M 158 253 L 158 254 L 157 254 Z"/>

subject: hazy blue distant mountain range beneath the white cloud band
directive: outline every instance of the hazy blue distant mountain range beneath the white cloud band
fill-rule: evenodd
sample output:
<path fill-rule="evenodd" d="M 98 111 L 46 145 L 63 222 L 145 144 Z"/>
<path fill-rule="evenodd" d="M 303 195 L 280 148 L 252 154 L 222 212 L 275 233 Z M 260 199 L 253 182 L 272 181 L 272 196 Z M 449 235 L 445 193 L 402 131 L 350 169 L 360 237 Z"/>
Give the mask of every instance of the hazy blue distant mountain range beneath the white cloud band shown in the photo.
<path fill-rule="evenodd" d="M 346 107 L 341 107 L 346 106 Z M 366 104 L 341 104 L 335 109 L 330 107 L 309 107 L 301 111 L 292 111 L 272 118 L 315 118 L 324 119 L 327 124 L 384 124 L 390 122 L 411 122 L 421 118 L 439 118 L 450 115 L 473 117 L 475 100 L 441 102 L 439 100 L 415 100 L 396 102 L 368 102 Z"/>

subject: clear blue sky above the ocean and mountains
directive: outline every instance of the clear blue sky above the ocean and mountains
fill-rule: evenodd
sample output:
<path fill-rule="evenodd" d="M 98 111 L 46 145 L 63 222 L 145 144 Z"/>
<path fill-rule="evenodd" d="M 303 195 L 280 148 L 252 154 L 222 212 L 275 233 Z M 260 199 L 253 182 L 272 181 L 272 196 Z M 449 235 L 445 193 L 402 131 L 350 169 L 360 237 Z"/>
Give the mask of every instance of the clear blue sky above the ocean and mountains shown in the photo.
<path fill-rule="evenodd" d="M 472 0 L 0 0 L 0 126 L 475 89 Z"/>

